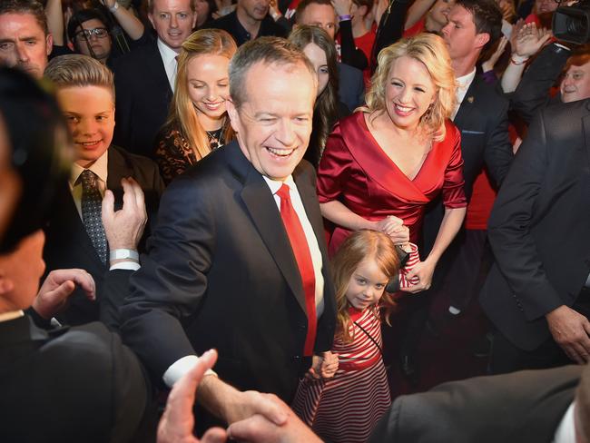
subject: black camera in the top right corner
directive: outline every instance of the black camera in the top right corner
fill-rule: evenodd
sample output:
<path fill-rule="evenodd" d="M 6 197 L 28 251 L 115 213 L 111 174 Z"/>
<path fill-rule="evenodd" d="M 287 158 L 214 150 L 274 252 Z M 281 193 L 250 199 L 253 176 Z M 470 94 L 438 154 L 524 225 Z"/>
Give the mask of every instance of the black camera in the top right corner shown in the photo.
<path fill-rule="evenodd" d="M 553 15 L 552 28 L 557 40 L 590 43 L 590 0 L 558 7 Z"/>

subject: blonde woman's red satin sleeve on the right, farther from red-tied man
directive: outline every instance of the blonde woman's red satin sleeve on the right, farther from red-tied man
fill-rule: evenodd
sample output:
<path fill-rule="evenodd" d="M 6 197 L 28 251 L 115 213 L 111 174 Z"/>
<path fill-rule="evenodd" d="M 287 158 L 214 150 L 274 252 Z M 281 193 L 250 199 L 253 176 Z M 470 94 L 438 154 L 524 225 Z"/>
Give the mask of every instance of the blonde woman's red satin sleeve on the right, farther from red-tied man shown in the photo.
<path fill-rule="evenodd" d="M 447 124 L 447 139 L 444 143 L 452 143 L 452 153 L 445 170 L 442 197 L 446 208 L 465 208 L 465 180 L 463 179 L 463 157 L 461 156 L 461 134 L 455 125 Z"/>

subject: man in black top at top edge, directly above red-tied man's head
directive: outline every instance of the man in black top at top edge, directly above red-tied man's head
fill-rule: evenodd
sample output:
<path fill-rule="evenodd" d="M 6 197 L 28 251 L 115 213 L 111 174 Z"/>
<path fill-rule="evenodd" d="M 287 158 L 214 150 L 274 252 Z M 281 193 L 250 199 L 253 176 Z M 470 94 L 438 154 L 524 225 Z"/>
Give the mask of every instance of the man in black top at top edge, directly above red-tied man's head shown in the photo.
<path fill-rule="evenodd" d="M 286 37 L 286 30 L 269 15 L 269 0 L 238 0 L 235 11 L 211 23 L 212 28 L 227 31 L 238 46 L 257 37 Z"/>

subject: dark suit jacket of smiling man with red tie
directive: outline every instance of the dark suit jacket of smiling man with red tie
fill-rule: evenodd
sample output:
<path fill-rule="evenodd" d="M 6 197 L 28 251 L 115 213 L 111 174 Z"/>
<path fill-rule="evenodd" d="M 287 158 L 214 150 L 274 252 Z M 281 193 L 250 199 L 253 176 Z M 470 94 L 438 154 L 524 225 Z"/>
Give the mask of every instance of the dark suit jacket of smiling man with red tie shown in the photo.
<path fill-rule="evenodd" d="M 324 313 L 315 349 L 328 350 L 335 302 L 315 172 L 293 172 L 320 244 Z M 152 376 L 195 351 L 219 350 L 221 379 L 290 402 L 307 332 L 304 293 L 280 212 L 237 142 L 177 177 L 162 196 L 142 269 L 121 315 L 123 340 Z"/>

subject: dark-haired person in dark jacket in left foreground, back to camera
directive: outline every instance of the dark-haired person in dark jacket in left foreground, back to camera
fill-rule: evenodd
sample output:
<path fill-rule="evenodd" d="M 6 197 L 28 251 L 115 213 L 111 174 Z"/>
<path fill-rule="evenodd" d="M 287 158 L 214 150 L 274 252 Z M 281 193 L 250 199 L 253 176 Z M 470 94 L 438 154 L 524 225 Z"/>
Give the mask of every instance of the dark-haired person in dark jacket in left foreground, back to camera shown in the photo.
<path fill-rule="evenodd" d="M 79 269 L 51 272 L 39 290 L 41 227 L 67 176 L 64 131 L 34 81 L 0 70 L 0 440 L 126 442 L 149 397 L 133 352 L 101 323 L 44 330 L 24 312 L 51 318 L 74 286 L 95 293 Z"/>

